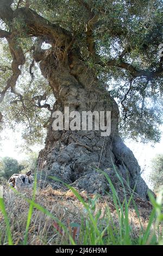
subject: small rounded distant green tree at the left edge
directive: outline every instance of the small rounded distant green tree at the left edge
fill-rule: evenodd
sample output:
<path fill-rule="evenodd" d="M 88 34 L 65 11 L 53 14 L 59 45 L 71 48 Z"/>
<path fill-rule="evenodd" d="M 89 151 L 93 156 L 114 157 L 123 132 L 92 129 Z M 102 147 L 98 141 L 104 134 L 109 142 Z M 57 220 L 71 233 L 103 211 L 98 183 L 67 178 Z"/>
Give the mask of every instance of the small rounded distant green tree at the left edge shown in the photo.
<path fill-rule="evenodd" d="M 12 174 L 19 173 L 23 168 L 21 164 L 18 164 L 16 159 L 12 159 L 11 157 L 3 157 L 1 163 L 0 176 L 7 180 Z"/>

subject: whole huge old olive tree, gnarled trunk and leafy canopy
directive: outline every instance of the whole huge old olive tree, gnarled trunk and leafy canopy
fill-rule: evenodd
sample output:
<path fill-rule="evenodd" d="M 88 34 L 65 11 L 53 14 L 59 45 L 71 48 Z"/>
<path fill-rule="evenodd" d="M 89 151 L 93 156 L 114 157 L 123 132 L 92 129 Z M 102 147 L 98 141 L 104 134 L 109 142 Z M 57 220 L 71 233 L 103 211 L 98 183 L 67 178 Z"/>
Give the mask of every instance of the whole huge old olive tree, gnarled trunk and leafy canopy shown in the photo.
<path fill-rule="evenodd" d="M 109 190 L 96 168 L 112 177 L 114 163 L 130 187 L 146 196 L 139 164 L 120 136 L 160 138 L 162 5 L 0 0 L 2 127 L 24 124 L 28 143 L 38 142 L 47 127 L 40 169 L 92 193 Z M 111 135 L 53 131 L 52 112 L 65 106 L 111 111 Z"/>

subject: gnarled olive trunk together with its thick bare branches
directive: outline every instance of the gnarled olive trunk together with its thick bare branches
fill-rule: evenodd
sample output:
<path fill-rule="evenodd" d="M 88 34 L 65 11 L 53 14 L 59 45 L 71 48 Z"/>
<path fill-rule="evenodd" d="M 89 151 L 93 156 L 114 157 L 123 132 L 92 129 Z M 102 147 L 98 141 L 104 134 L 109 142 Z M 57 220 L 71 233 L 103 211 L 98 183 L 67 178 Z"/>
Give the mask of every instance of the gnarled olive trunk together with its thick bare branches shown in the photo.
<path fill-rule="evenodd" d="M 84 64 L 81 57 L 83 48 L 77 47 L 79 40 L 74 38 L 75 33 L 72 34 L 71 29 L 67 31 L 57 24 L 52 24 L 30 9 L 29 4 L 20 8 L 21 1 L 18 1 L 17 8 L 13 10 L 11 7 L 13 2 L 12 0 L 0 0 L 0 18 L 10 27 L 9 32 L 0 29 L 0 38 L 7 39 L 13 59 L 12 76 L 1 92 L 0 103 L 8 89 L 11 89 L 20 102 L 23 102 L 23 96 L 16 90 L 16 81 L 21 74 L 20 65 L 24 64 L 25 58 L 17 36 L 18 38 L 34 36 L 37 38 L 37 43 L 33 57 L 36 62 L 40 62 L 42 75 L 47 78 L 53 90 L 56 99 L 53 111 L 59 110 L 64 113 L 65 107 L 69 107 L 70 112 L 79 111 L 80 113 L 82 111 L 111 111 L 111 134 L 108 137 L 102 137 L 101 132 L 95 130 L 54 131 L 51 116 L 45 149 L 41 151 L 39 157 L 39 169 L 45 171 L 46 175 L 57 176 L 79 189 L 90 193 L 103 193 L 109 190 L 109 184 L 97 168 L 106 172 L 116 185 L 115 165 L 124 182 L 129 180 L 129 186 L 135 187 L 140 196 L 146 197 L 147 185 L 141 179 L 139 164 L 118 134 L 117 103 L 99 84 L 93 70 Z M 122 60 L 122 54 L 118 58 L 103 63 L 101 56 L 96 53 L 93 35 L 93 27 L 98 21 L 98 14 L 92 13 L 89 4 L 85 2 L 78 1 L 78 4 L 80 7 L 82 5 L 89 15 L 85 31 L 87 44 L 84 45 L 87 48 L 84 54 L 85 59 L 92 58 L 96 65 L 103 67 L 116 66 L 125 69 L 132 77 L 143 76 L 149 79 L 149 77 L 154 78 L 162 74 L 160 65 L 159 69 L 153 72 L 137 70 L 131 63 Z M 20 29 L 17 29 L 17 23 Z M 123 33 L 120 31 L 120 34 Z M 51 44 L 50 50 L 42 50 L 42 42 Z M 123 54 L 125 52 L 126 50 Z M 0 113 L 0 121 L 1 119 Z M 45 161 L 46 164 L 43 164 Z"/>

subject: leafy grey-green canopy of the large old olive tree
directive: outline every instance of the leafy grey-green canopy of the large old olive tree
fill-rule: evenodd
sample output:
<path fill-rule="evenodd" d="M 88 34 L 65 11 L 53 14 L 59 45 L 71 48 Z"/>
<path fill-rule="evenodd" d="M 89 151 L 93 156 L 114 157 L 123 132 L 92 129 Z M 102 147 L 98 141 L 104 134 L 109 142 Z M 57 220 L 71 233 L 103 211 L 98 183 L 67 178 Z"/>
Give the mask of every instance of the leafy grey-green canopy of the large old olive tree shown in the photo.
<path fill-rule="evenodd" d="M 43 138 L 43 127 L 51 114 L 48 110 L 55 99 L 33 60 L 33 49 L 40 36 L 42 48 L 51 46 L 46 44 L 48 33 L 55 40 L 71 38 L 71 47 L 79 49 L 84 64 L 115 97 L 123 136 L 159 141 L 162 7 L 161 0 L 0 0 L 1 127 L 14 128 L 20 123 L 28 143 Z M 31 14 L 35 17 L 33 24 Z"/>

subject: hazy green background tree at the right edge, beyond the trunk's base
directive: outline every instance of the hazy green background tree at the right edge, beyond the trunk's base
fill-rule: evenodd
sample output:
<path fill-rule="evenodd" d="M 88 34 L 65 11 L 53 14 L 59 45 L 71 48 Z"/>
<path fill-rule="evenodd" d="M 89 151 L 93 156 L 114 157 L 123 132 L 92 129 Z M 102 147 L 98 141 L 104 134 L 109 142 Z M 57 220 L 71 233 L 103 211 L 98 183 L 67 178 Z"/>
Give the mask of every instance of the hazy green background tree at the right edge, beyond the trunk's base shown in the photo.
<path fill-rule="evenodd" d="M 154 191 L 157 192 L 160 187 L 163 187 L 163 155 L 159 154 L 152 160 L 151 182 Z"/>

